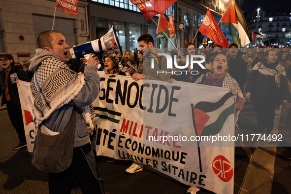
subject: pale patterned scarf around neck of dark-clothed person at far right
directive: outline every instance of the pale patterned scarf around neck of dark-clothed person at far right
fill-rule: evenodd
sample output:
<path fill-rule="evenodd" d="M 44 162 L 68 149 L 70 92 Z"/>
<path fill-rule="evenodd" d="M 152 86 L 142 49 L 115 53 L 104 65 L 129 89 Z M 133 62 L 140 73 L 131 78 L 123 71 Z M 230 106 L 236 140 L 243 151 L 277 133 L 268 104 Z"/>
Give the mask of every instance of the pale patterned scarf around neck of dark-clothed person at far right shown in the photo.
<path fill-rule="evenodd" d="M 286 72 L 285 72 L 285 68 L 281 64 L 278 64 L 275 68 L 277 71 L 265 67 L 262 63 L 257 63 L 254 66 L 253 70 L 259 70 L 259 73 L 266 76 L 275 76 L 277 87 L 280 88 L 281 75 L 286 76 Z"/>

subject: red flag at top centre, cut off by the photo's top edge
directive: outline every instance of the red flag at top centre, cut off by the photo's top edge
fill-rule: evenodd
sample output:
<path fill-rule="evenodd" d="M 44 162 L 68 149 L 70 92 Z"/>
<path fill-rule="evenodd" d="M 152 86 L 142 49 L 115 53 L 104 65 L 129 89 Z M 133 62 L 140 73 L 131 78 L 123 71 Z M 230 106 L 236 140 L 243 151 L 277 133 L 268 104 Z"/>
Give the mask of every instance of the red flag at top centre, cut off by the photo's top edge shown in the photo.
<path fill-rule="evenodd" d="M 130 0 L 147 19 L 157 14 L 163 14 L 169 6 L 176 1 L 177 0 Z"/>

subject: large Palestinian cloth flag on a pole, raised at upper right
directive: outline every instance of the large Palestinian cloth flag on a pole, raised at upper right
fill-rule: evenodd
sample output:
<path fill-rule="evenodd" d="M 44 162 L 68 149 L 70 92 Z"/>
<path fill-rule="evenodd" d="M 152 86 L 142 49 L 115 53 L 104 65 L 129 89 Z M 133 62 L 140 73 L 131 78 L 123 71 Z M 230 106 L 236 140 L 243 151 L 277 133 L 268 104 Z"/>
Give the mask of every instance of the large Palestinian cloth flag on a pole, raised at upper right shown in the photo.
<path fill-rule="evenodd" d="M 232 0 L 230 3 L 221 22 L 226 28 L 228 28 L 233 42 L 239 47 L 244 47 L 251 42 L 249 27 L 235 0 Z"/>

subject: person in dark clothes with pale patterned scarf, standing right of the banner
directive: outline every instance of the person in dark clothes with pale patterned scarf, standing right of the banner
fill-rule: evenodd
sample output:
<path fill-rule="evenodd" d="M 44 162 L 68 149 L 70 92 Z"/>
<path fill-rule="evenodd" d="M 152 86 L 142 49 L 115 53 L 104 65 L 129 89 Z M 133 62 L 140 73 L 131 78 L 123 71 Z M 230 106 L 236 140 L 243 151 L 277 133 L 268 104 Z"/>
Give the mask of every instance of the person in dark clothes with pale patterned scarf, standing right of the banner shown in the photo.
<path fill-rule="evenodd" d="M 258 130 L 267 138 L 274 127 L 275 107 L 279 94 L 283 99 L 282 106 L 287 104 L 289 89 L 285 68 L 279 64 L 276 51 L 266 51 L 262 63 L 257 63 L 246 84 L 246 99 L 254 101 Z"/>

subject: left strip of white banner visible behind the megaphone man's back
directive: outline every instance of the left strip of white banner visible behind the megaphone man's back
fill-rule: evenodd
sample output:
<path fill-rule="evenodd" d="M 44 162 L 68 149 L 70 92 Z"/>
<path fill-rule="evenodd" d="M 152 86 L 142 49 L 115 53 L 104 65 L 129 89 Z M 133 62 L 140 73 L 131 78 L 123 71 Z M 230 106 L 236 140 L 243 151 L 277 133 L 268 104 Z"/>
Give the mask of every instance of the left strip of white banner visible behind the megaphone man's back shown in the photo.
<path fill-rule="evenodd" d="M 32 114 L 28 108 L 28 94 L 31 87 L 31 82 L 18 80 L 17 88 L 22 110 L 22 117 L 24 123 L 25 137 L 27 142 L 28 152 L 33 151 L 35 127 L 32 121 Z"/>

